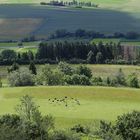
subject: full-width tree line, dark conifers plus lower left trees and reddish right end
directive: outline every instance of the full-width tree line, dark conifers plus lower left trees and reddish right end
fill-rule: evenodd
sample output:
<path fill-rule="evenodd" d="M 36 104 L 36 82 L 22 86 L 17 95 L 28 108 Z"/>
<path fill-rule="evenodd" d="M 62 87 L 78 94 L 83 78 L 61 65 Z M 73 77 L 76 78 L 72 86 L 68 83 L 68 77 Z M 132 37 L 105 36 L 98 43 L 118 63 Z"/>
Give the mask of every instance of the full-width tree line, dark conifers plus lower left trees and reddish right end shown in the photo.
<path fill-rule="evenodd" d="M 30 61 L 36 64 L 58 64 L 60 61 L 73 64 L 139 64 L 139 50 L 139 47 L 122 46 L 120 43 L 42 42 L 36 53 L 3 50 L 0 65 L 11 65 L 13 62 L 29 64 Z"/>

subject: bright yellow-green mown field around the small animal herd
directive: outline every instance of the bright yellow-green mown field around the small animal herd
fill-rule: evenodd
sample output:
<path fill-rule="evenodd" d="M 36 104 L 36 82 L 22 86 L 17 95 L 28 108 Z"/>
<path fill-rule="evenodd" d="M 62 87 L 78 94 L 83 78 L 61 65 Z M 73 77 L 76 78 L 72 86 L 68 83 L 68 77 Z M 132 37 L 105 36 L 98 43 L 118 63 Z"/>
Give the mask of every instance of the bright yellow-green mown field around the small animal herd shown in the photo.
<path fill-rule="evenodd" d="M 140 90 L 108 87 L 19 87 L 0 89 L 0 114 L 14 113 L 19 98 L 28 94 L 34 97 L 42 114 L 51 114 L 59 127 L 94 123 L 99 120 L 114 121 L 118 115 L 140 110 Z M 80 105 L 71 101 L 64 104 L 49 103 L 51 98 L 78 99 Z"/>

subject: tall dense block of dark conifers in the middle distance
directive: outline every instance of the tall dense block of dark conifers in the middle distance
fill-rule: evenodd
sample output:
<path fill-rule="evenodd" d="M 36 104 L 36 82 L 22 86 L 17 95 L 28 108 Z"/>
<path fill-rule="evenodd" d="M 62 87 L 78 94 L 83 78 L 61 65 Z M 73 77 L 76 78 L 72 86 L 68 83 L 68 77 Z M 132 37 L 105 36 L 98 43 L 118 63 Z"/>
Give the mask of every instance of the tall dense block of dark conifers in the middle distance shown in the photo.
<path fill-rule="evenodd" d="M 55 42 L 40 43 L 37 59 L 51 60 L 87 60 L 88 63 L 104 63 L 106 60 L 114 59 L 113 44 L 98 45 L 84 42 Z"/>

